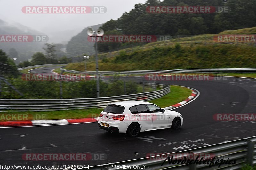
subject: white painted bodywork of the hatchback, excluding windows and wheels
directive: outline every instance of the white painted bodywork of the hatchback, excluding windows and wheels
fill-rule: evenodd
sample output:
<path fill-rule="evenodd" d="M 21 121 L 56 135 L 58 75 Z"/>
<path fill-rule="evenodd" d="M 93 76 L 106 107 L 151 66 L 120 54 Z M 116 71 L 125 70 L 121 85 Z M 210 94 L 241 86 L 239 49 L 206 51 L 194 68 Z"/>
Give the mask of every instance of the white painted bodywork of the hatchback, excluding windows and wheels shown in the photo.
<path fill-rule="evenodd" d="M 152 103 L 142 101 L 125 101 L 111 103 L 111 105 L 118 105 L 124 107 L 124 112 L 122 114 L 114 114 L 102 111 L 101 114 L 103 116 L 99 117 L 98 123 L 100 125 L 102 125 L 102 123 L 109 124 L 109 127 L 104 128 L 117 127 L 119 129 L 119 133 L 126 133 L 128 126 L 133 122 L 137 122 L 140 124 L 140 132 L 170 128 L 172 125 L 172 121 L 175 117 L 179 117 L 181 119 L 181 126 L 183 125 L 183 118 L 181 114 L 175 111 L 165 110 L 165 112 L 132 114 L 129 110 L 130 107 L 142 104 Z M 124 120 L 113 120 L 113 116 L 118 115 L 125 115 Z"/>

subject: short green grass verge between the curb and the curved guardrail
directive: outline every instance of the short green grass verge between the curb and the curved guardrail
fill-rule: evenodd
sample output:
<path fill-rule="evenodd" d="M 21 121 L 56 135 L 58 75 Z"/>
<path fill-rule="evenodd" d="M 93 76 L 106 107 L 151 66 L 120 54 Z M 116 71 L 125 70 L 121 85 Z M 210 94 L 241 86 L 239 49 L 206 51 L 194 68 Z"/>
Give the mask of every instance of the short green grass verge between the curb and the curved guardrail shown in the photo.
<path fill-rule="evenodd" d="M 149 102 L 155 103 L 159 107 L 168 107 L 185 100 L 190 96 L 191 90 L 180 86 L 171 86 L 171 92 L 159 99 L 150 100 Z M 90 118 L 98 117 L 103 109 L 78 109 L 78 110 L 63 110 L 63 111 L 44 111 L 44 112 L 19 112 L 20 114 L 29 114 L 34 120 L 46 119 L 77 119 L 77 118 Z M 1 114 L 17 114 L 15 111 L 1 112 Z M 2 119 L 3 120 L 3 119 Z"/>

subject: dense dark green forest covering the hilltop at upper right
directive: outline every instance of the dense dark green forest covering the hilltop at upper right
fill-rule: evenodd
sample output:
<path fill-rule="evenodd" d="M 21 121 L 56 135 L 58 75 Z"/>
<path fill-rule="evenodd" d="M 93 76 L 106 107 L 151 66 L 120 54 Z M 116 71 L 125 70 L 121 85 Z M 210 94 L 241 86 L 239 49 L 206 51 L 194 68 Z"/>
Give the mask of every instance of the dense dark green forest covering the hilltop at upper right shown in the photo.
<path fill-rule="evenodd" d="M 228 13 L 148 13 L 147 6 L 227 6 Z M 186 36 L 217 34 L 256 26 L 255 0 L 148 0 L 136 4 L 117 20 L 110 20 L 101 27 L 105 34 L 117 35 L 171 35 Z M 118 49 L 127 43 L 100 43 L 99 51 Z"/>

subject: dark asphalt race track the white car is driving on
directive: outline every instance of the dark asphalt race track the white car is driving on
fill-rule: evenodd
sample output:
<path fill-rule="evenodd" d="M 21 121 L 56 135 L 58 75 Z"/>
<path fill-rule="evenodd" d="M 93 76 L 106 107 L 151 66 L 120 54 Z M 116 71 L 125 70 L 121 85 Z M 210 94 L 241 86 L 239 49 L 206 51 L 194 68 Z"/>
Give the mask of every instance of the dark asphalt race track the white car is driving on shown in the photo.
<path fill-rule="evenodd" d="M 50 72 L 53 68 L 56 67 L 47 69 Z M 31 73 L 40 71 L 35 69 Z M 133 79 L 141 80 L 138 77 Z M 200 92 L 193 102 L 174 109 L 184 118 L 184 125 L 180 129 L 149 131 L 131 138 L 99 130 L 95 122 L 0 128 L 1 164 L 94 166 L 144 158 L 149 153 L 177 152 L 256 135 L 256 122 L 221 122 L 213 119 L 213 115 L 218 113 L 256 113 L 256 79 L 222 77 L 210 81 L 158 82 L 187 86 Z M 92 153 L 104 155 L 104 160 L 92 157 L 96 160 L 28 161 L 22 159 L 24 153 Z"/>

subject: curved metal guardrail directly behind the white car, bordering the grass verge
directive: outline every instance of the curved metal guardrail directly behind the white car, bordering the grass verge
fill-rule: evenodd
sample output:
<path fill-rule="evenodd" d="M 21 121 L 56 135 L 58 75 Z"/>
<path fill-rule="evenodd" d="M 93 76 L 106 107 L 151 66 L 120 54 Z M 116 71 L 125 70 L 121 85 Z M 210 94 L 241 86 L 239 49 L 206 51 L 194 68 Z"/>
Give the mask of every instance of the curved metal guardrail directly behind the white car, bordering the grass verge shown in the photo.
<path fill-rule="evenodd" d="M 139 83 L 141 84 L 141 83 Z M 147 101 L 160 98 L 170 92 L 169 85 L 144 83 L 145 86 L 161 87 L 163 89 L 129 94 L 122 96 L 77 99 L 0 99 L 0 112 L 15 111 L 50 111 L 68 109 L 86 109 L 106 107 L 108 103 L 117 101 Z"/>

